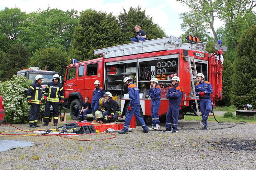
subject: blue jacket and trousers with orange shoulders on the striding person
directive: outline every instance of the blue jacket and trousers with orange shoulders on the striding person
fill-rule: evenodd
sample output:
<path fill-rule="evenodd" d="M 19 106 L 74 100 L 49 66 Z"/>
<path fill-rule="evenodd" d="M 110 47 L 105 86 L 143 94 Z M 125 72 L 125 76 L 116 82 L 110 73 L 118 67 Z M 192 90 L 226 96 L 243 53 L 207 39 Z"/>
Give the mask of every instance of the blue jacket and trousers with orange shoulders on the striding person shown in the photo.
<path fill-rule="evenodd" d="M 127 109 L 123 129 L 126 132 L 128 131 L 133 114 L 135 114 L 136 119 L 139 120 L 143 129 L 149 129 L 140 115 L 140 90 L 133 83 L 130 83 L 128 86 L 128 93 L 130 97 L 131 111 Z"/>

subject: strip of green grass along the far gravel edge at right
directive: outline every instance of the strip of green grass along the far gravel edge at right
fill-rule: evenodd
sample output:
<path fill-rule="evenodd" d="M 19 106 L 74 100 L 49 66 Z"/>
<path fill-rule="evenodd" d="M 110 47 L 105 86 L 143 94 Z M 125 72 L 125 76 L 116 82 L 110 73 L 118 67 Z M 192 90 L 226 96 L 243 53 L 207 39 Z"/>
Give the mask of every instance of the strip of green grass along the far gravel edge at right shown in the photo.
<path fill-rule="evenodd" d="M 210 114 L 212 115 L 212 114 Z M 231 121 L 231 122 L 237 122 L 237 121 L 246 121 L 247 123 L 256 123 L 256 116 L 254 117 L 248 117 L 248 116 L 234 116 L 232 118 L 223 118 L 221 115 L 215 115 L 216 119 L 219 122 L 224 122 L 224 121 Z M 197 120 L 201 121 L 202 117 L 201 116 L 187 116 L 185 115 L 184 120 Z M 208 117 L 208 121 L 216 121 L 213 116 Z"/>

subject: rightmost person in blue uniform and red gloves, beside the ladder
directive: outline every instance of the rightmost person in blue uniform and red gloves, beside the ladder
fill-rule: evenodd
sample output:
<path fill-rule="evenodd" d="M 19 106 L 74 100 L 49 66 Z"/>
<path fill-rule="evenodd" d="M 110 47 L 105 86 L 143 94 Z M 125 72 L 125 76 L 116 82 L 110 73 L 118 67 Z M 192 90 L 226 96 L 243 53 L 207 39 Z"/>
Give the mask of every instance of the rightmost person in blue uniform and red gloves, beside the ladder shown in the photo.
<path fill-rule="evenodd" d="M 200 109 L 202 112 L 202 121 L 200 124 L 204 126 L 203 129 L 208 129 L 207 119 L 209 113 L 211 112 L 211 94 L 212 94 L 212 87 L 211 83 L 205 81 L 205 76 L 202 73 L 198 73 L 196 75 L 196 79 L 198 83 L 195 86 L 196 95 L 199 95 L 199 103 Z"/>

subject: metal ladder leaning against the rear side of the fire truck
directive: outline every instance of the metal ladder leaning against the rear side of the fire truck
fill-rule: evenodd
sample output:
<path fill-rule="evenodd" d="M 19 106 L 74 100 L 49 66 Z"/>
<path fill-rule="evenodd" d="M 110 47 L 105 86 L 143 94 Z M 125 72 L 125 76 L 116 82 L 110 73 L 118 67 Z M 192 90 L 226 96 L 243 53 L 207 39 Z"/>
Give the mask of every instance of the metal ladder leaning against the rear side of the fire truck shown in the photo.
<path fill-rule="evenodd" d="M 190 82 L 191 82 L 191 91 L 193 91 L 194 96 L 192 96 L 191 94 L 191 99 L 195 100 L 196 103 L 196 112 L 197 112 L 197 116 L 199 116 L 199 109 L 198 109 L 198 103 L 197 103 L 197 97 L 196 97 L 196 89 L 195 89 L 195 81 L 196 80 L 196 75 L 197 75 L 197 71 L 196 71 L 196 63 L 195 63 L 195 57 L 194 56 L 184 56 L 186 61 L 188 62 L 189 65 L 189 70 L 187 68 L 185 68 L 186 70 L 189 71 L 190 73 Z M 191 65 L 191 62 L 193 62 L 193 65 Z"/>

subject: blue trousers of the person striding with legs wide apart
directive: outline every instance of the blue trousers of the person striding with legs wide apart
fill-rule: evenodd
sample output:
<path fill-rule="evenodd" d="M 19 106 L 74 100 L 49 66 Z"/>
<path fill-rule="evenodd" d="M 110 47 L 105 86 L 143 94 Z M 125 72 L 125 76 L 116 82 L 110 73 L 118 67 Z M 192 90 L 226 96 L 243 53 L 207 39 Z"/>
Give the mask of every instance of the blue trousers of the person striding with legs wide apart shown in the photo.
<path fill-rule="evenodd" d="M 132 118 L 133 114 L 135 115 L 136 119 L 139 120 L 143 129 L 149 129 L 146 126 L 143 118 L 140 115 L 140 105 L 131 105 L 131 111 L 129 111 L 127 109 L 127 112 L 126 112 L 126 115 L 125 115 L 125 124 L 124 124 L 124 128 L 123 128 L 125 131 L 128 131 L 128 127 L 130 125 L 131 118 Z"/>

